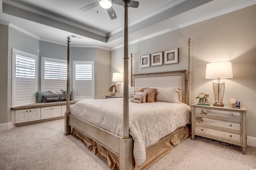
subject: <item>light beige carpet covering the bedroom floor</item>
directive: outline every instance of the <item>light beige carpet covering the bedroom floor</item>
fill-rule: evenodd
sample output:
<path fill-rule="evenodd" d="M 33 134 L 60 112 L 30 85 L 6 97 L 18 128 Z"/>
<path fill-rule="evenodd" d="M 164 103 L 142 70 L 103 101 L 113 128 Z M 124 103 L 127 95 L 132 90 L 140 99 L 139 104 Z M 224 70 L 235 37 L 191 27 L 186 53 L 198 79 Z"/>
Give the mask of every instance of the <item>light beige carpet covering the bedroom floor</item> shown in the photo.
<path fill-rule="evenodd" d="M 64 119 L 0 132 L 1 170 L 109 170 L 82 142 L 64 135 Z M 256 148 L 191 136 L 148 170 L 252 170 Z"/>

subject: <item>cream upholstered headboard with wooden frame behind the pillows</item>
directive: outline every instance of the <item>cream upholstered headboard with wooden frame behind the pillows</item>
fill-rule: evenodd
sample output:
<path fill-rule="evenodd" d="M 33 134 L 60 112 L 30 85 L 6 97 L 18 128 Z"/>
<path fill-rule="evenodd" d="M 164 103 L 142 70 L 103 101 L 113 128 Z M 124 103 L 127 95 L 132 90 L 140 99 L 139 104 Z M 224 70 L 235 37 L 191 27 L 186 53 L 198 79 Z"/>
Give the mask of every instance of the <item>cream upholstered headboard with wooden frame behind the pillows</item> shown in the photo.
<path fill-rule="evenodd" d="M 187 70 L 133 74 L 134 87 L 180 87 L 179 101 L 185 103 L 185 73 Z"/>

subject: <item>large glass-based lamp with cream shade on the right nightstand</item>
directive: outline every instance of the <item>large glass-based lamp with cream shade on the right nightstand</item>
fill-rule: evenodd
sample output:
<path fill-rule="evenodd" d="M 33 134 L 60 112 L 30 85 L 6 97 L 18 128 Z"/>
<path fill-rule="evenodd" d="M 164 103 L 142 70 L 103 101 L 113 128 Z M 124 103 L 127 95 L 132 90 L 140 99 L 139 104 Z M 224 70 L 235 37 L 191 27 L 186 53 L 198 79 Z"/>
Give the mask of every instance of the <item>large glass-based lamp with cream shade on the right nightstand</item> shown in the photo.
<path fill-rule="evenodd" d="M 214 99 L 215 99 L 215 103 L 213 104 L 213 106 L 224 107 L 222 100 L 223 100 L 224 91 L 225 91 L 225 83 L 220 78 L 226 79 L 226 78 L 232 78 L 232 77 L 233 77 L 233 71 L 232 71 L 232 63 L 230 61 L 221 61 L 221 62 L 206 64 L 205 78 L 206 79 L 217 78 L 217 80 L 214 81 L 212 84 Z"/>

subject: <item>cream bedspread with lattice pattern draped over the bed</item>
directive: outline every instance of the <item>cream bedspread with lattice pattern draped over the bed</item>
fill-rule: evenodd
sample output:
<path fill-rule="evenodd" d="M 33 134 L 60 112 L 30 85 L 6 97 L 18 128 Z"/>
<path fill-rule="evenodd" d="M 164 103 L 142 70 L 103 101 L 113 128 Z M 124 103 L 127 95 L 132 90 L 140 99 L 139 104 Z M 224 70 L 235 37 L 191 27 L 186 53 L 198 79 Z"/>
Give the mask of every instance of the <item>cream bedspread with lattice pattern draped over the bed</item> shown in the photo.
<path fill-rule="evenodd" d="M 122 136 L 123 99 L 86 99 L 70 108 L 70 114 Z M 129 102 L 129 128 L 134 140 L 134 159 L 140 166 L 146 148 L 191 121 L 191 108 L 184 103 Z"/>

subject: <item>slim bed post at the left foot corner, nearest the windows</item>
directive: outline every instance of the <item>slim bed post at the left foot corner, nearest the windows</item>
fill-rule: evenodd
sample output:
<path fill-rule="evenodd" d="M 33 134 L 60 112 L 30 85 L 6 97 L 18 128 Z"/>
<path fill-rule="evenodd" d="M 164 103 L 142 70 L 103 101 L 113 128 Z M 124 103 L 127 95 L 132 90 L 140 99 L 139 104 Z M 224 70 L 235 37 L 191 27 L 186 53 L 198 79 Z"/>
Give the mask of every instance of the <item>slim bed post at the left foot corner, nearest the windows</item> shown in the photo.
<path fill-rule="evenodd" d="M 69 115 L 69 109 L 70 109 L 70 37 L 68 36 L 68 65 L 67 65 L 67 108 L 66 108 L 66 112 L 65 112 L 65 135 L 71 134 L 71 127 L 68 125 L 68 115 Z"/>

